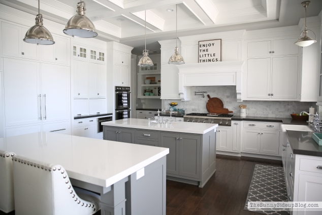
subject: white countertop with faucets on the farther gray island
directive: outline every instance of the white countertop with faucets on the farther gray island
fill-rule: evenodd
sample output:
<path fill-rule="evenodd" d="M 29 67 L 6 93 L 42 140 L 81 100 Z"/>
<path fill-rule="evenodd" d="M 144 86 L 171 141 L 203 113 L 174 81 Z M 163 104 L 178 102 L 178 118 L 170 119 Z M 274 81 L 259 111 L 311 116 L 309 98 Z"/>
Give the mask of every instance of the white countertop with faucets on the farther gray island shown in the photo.
<path fill-rule="evenodd" d="M 102 122 L 103 126 L 113 126 L 122 128 L 133 128 L 133 129 L 145 129 L 145 130 L 157 130 L 157 131 L 168 131 L 168 132 L 181 132 L 191 134 L 206 134 L 207 132 L 218 127 L 218 124 L 209 123 L 194 123 L 194 122 L 172 122 L 170 125 L 149 123 L 148 119 L 119 119 L 114 121 Z"/>

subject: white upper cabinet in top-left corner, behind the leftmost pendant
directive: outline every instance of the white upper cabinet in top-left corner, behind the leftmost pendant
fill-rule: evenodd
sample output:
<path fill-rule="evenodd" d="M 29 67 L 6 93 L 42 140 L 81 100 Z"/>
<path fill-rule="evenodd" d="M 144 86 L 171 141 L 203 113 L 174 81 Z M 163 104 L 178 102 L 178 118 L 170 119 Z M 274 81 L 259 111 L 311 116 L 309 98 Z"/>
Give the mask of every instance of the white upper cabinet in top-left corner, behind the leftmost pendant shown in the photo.
<path fill-rule="evenodd" d="M 23 42 L 22 40 L 28 28 L 6 22 L 1 24 L 3 55 L 39 60 L 39 46 Z"/>

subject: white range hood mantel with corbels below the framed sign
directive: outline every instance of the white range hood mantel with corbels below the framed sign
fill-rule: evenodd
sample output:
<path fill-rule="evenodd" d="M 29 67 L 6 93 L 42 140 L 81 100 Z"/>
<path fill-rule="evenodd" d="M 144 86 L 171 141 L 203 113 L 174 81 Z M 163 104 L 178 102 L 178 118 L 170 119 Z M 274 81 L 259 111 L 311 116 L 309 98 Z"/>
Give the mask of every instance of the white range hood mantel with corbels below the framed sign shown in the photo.
<path fill-rule="evenodd" d="M 237 101 L 242 102 L 243 64 L 244 60 L 176 65 L 181 100 L 190 100 L 191 86 L 236 85 Z"/>

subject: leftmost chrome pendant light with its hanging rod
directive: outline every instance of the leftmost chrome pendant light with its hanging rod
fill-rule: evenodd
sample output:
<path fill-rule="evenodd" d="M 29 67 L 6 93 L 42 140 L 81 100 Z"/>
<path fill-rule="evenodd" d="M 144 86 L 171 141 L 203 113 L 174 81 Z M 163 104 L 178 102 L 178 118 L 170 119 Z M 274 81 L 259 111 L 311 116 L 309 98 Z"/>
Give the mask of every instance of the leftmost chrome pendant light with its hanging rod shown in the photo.
<path fill-rule="evenodd" d="M 27 30 L 23 39 L 26 43 L 37 45 L 53 45 L 55 44 L 49 30 L 43 25 L 43 15 L 40 14 L 40 0 L 38 0 L 38 14 L 36 16 L 36 24 Z"/>

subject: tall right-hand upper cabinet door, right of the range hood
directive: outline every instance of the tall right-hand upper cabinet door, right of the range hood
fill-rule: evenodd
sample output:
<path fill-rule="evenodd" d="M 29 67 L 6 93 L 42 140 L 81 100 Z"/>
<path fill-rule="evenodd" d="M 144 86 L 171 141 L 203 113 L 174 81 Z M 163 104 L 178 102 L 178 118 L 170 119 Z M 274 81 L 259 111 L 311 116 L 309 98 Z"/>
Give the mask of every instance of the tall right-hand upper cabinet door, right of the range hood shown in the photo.
<path fill-rule="evenodd" d="M 273 57 L 272 99 L 296 99 L 298 57 Z"/>

